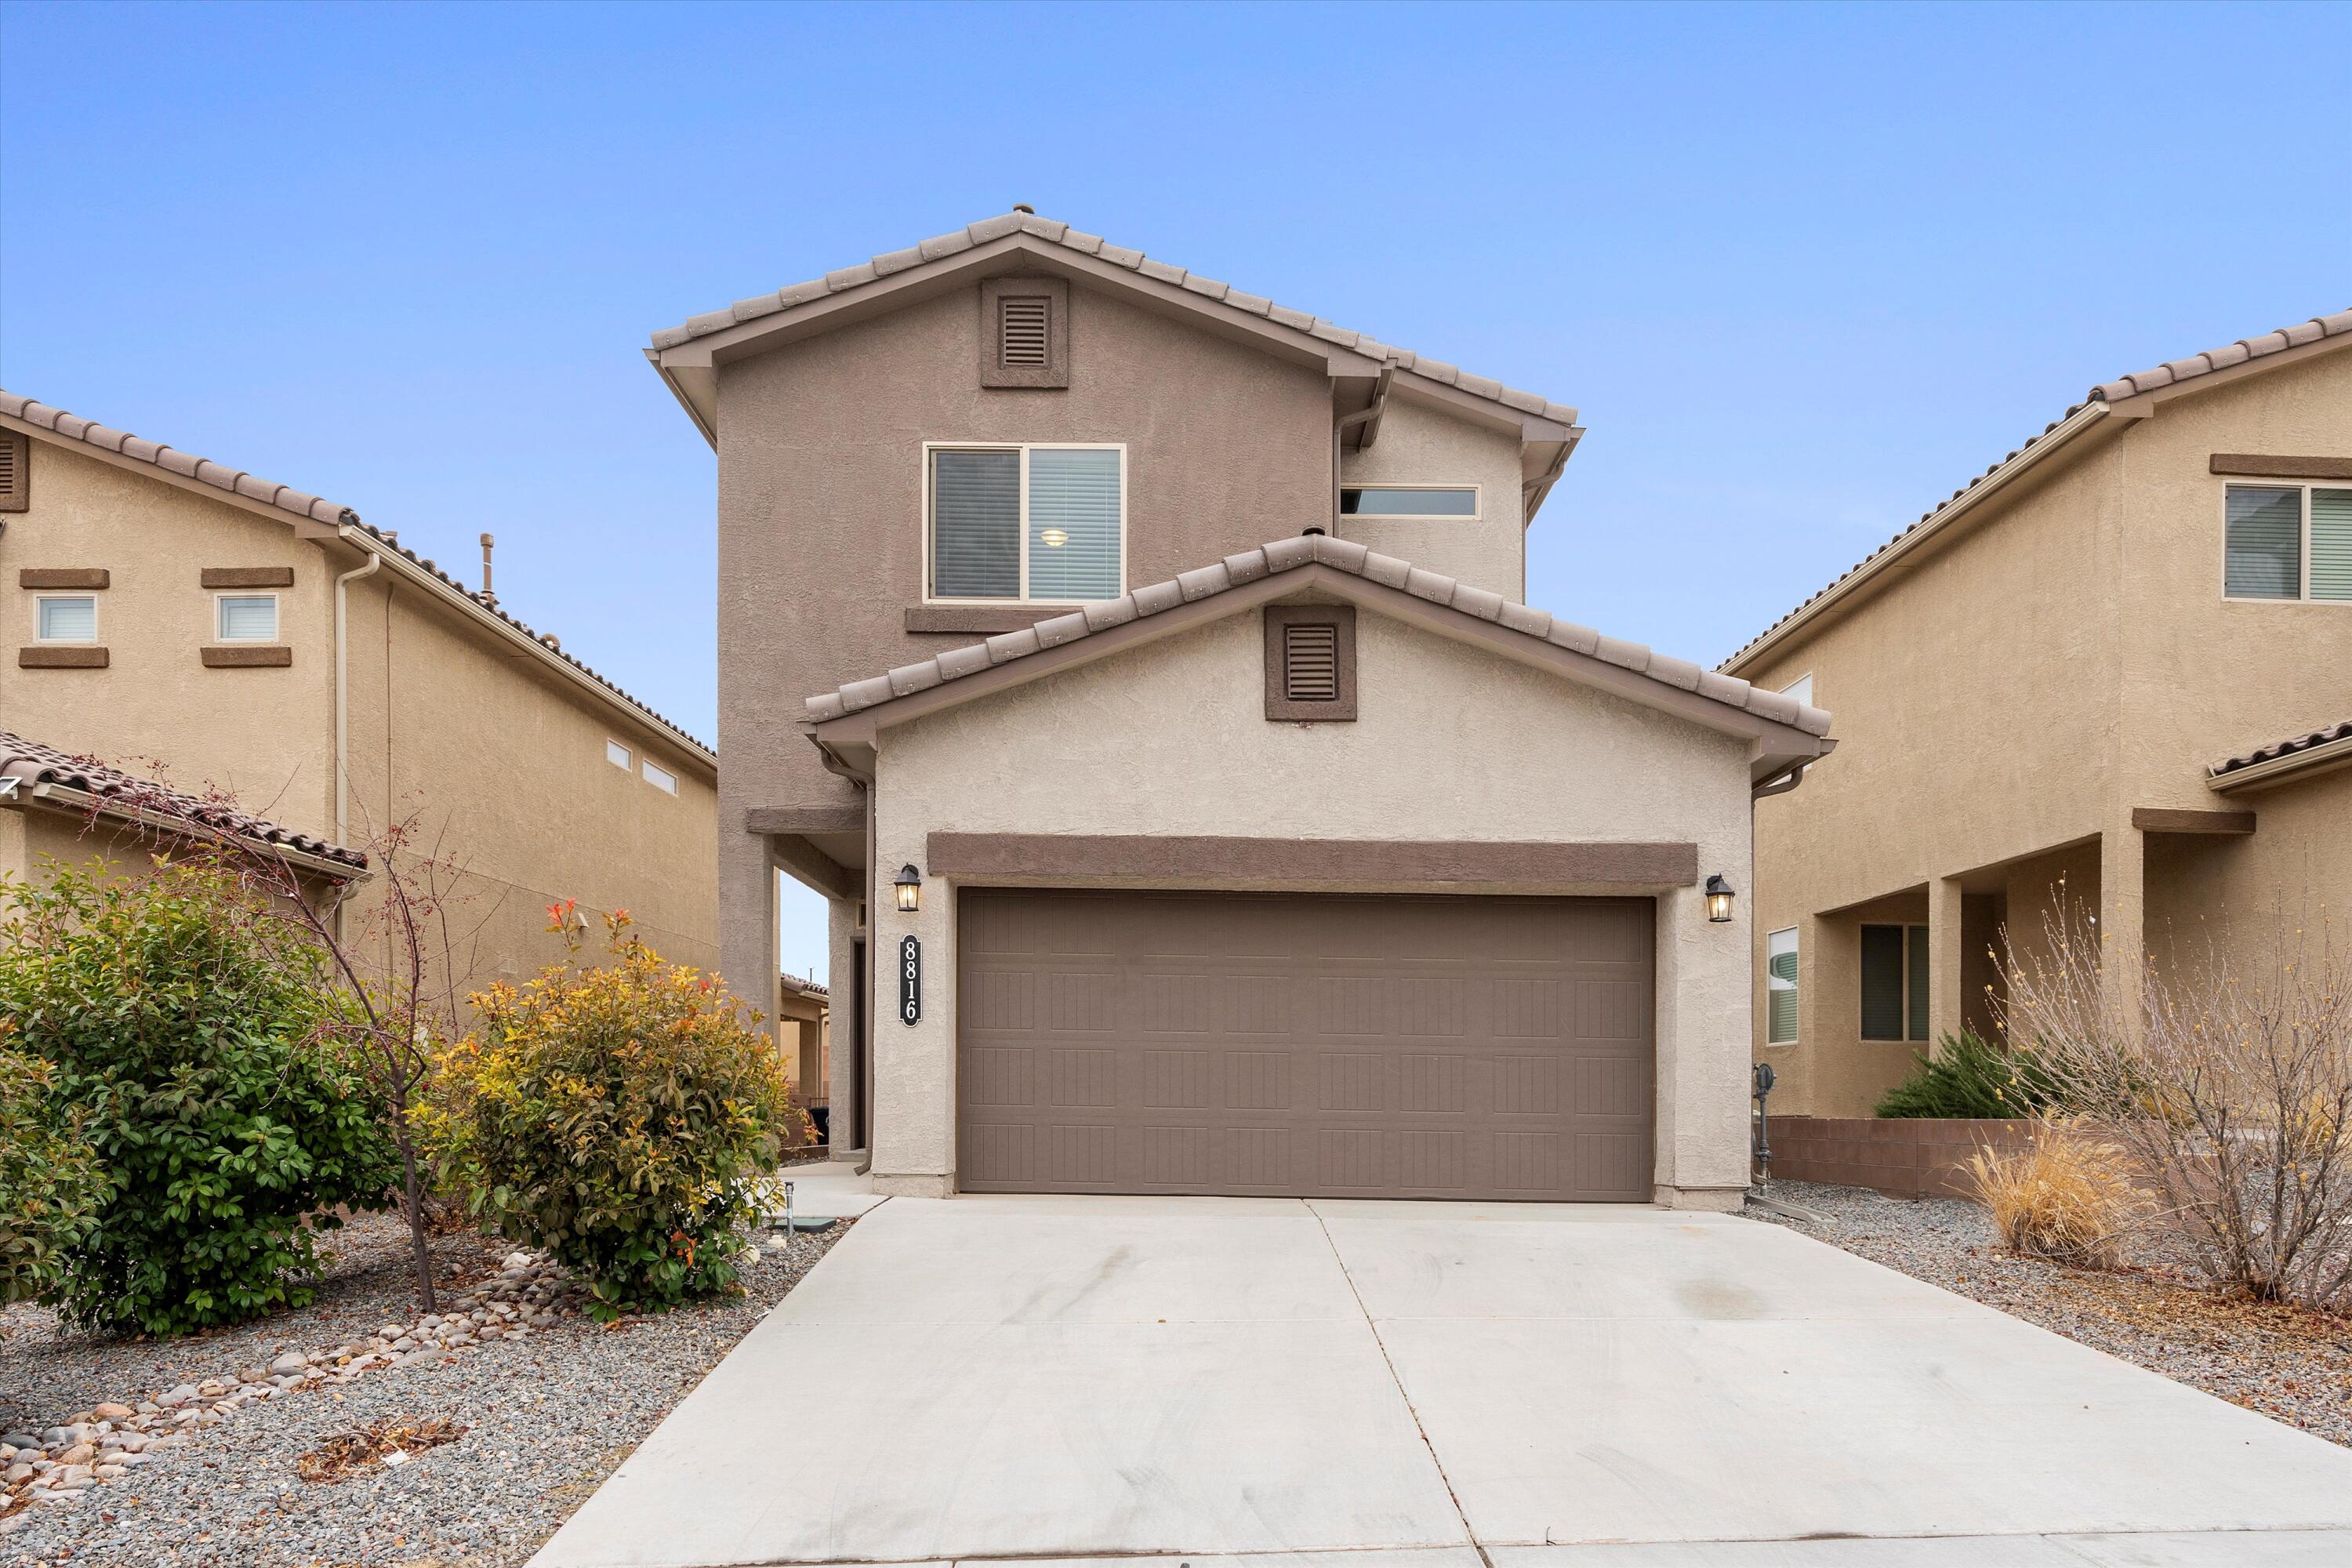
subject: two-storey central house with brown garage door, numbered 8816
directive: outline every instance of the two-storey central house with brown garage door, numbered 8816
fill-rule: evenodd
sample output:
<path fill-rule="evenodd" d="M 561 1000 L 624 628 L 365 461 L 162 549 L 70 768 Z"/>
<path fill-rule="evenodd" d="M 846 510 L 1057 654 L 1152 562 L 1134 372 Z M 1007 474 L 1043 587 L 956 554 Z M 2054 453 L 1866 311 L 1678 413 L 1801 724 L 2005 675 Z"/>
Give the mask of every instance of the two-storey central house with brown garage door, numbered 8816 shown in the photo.
<path fill-rule="evenodd" d="M 649 357 L 729 966 L 833 900 L 882 1190 L 1740 1201 L 1703 889 L 1830 717 L 1517 602 L 1573 409 L 1025 209 Z"/>

